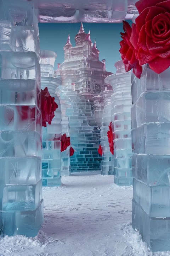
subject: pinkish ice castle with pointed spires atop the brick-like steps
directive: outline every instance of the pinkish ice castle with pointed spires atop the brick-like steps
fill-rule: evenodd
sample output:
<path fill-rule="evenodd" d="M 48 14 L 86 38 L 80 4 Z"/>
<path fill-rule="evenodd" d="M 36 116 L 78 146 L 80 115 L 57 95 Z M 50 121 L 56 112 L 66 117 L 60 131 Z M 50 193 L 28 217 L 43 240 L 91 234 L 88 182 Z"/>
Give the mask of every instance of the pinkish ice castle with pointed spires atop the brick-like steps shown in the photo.
<path fill-rule="evenodd" d="M 99 60 L 100 51 L 97 49 L 96 41 L 92 43 L 90 31 L 88 34 L 85 33 L 82 23 L 79 32 L 75 35 L 75 44 L 76 46 L 72 46 L 68 35 L 64 46 L 64 62 L 55 70 L 55 75 L 62 80 L 63 86 L 75 90 L 89 101 L 96 122 L 92 123 L 94 117 L 90 117 L 89 110 L 90 113 L 85 114 L 88 123 L 90 125 L 97 123 L 97 126 L 101 127 L 104 100 L 99 94 L 104 90 L 104 79 L 112 73 L 106 71 L 106 60 Z"/>

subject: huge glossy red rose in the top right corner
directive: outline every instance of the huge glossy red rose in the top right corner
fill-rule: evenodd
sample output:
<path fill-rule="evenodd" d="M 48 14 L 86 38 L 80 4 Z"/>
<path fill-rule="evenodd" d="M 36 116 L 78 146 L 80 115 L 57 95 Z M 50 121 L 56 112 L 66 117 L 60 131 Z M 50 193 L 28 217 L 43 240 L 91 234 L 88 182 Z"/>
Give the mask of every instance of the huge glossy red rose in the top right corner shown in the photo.
<path fill-rule="evenodd" d="M 148 63 L 160 74 L 170 66 L 170 0 L 140 0 L 136 7 L 139 16 L 131 43 L 136 45 L 138 38 L 139 64 Z"/>

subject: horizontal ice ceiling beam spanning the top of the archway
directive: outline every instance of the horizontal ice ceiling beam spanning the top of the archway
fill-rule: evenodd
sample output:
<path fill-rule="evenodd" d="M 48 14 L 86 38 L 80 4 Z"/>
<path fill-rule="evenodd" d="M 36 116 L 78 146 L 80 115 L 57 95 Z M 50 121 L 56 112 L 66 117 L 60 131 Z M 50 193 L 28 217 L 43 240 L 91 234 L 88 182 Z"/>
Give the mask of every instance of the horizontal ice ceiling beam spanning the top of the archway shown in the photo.
<path fill-rule="evenodd" d="M 138 15 L 137 0 L 35 0 L 39 22 L 122 22 Z"/>

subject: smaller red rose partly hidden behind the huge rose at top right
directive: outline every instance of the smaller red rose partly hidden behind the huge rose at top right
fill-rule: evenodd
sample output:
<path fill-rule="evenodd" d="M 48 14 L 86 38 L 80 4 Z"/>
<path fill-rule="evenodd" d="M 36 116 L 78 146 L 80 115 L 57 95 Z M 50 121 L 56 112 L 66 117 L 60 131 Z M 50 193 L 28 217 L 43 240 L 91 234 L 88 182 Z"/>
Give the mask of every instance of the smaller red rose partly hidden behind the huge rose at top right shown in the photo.
<path fill-rule="evenodd" d="M 135 24 L 133 24 L 133 28 L 134 27 Z M 130 42 L 132 28 L 126 21 L 123 21 L 123 30 L 125 33 L 120 33 L 123 40 L 120 42 L 121 48 L 119 52 L 125 65 L 125 70 L 128 72 L 129 70 L 133 69 L 133 73 L 137 76 L 137 78 L 140 78 L 142 74 L 142 67 L 139 65 L 137 59 L 138 49 L 134 48 Z"/>

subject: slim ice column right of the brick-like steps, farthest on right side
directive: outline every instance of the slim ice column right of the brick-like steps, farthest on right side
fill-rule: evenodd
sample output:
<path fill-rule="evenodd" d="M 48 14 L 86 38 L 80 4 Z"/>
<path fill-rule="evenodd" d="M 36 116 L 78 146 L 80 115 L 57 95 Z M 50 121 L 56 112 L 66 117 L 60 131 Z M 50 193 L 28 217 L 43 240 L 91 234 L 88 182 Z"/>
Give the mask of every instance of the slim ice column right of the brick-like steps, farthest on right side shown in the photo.
<path fill-rule="evenodd" d="M 108 77 L 109 78 L 109 77 Z M 107 82 L 107 78 L 105 79 Z M 109 142 L 107 137 L 108 126 L 111 122 L 111 95 L 113 94 L 112 86 L 106 85 L 105 91 L 101 92 L 101 96 L 104 98 L 104 109 L 102 117 L 102 127 L 101 127 L 101 146 L 102 146 L 102 164 L 101 164 L 101 174 L 102 175 L 113 175 L 114 174 L 114 156 L 112 155 Z"/>

